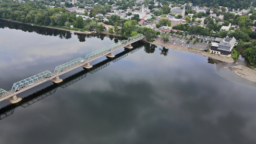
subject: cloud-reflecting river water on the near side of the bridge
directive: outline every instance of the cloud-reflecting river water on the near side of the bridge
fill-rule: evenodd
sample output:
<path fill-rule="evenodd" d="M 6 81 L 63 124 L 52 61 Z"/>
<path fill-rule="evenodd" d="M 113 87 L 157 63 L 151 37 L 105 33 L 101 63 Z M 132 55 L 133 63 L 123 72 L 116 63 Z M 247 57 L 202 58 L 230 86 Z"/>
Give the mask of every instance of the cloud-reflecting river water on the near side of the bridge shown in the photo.
<path fill-rule="evenodd" d="M 15 109 L 0 121 L 1 143 L 255 144 L 255 89 L 202 56 L 159 52 L 141 49 Z"/>

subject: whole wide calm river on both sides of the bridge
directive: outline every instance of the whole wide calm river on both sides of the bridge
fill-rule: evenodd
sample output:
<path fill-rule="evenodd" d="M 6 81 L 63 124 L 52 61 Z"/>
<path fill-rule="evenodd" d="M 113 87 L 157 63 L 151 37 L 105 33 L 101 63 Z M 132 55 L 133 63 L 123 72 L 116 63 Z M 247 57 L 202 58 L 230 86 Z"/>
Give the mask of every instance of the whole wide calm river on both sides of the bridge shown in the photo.
<path fill-rule="evenodd" d="M 0 20 L 0 88 L 118 40 Z M 9 109 L 0 144 L 256 144 L 256 83 L 201 55 L 132 46 L 91 62 L 106 61 L 95 71 L 77 68 L 60 76 L 65 83 L 20 93 L 35 97 L 28 103 L 1 101 Z"/>

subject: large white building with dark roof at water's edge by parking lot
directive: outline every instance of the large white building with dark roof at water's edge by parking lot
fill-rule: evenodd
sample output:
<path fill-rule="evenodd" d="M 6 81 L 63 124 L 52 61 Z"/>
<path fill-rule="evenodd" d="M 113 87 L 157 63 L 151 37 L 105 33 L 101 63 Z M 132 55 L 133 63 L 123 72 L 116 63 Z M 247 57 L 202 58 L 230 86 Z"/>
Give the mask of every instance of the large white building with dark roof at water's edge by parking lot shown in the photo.
<path fill-rule="evenodd" d="M 211 43 L 211 53 L 221 54 L 221 55 L 230 55 L 234 46 L 238 44 L 238 40 L 234 37 L 227 36 L 223 38 L 220 43 Z"/>

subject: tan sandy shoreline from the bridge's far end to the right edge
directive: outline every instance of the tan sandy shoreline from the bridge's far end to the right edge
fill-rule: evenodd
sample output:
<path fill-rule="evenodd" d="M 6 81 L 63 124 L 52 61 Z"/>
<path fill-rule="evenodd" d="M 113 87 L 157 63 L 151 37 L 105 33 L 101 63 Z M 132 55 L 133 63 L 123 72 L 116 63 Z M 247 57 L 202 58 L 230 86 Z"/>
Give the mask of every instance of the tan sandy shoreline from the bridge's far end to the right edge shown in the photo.
<path fill-rule="evenodd" d="M 232 58 L 228 58 L 225 56 L 221 56 L 221 55 L 216 55 L 216 54 L 211 54 L 205 51 L 201 51 L 201 50 L 195 50 L 195 49 L 191 49 L 191 48 L 187 48 L 184 46 L 178 46 L 178 45 L 173 45 L 170 43 L 164 43 L 162 41 L 154 41 L 151 42 L 151 44 L 154 45 L 158 45 L 158 46 L 163 46 L 165 48 L 171 48 L 171 49 L 177 49 L 177 50 L 183 50 L 183 51 L 187 51 L 187 52 L 192 52 L 195 54 L 199 54 L 199 55 L 203 55 L 205 57 L 209 57 L 215 60 L 220 60 L 223 62 L 227 62 L 227 63 L 233 63 L 234 60 Z M 249 81 L 253 81 L 256 82 L 256 68 L 249 68 L 246 67 L 244 65 L 238 65 L 238 66 L 233 66 L 233 67 L 229 67 L 231 70 L 233 70 L 237 75 L 243 77 L 246 80 Z"/>

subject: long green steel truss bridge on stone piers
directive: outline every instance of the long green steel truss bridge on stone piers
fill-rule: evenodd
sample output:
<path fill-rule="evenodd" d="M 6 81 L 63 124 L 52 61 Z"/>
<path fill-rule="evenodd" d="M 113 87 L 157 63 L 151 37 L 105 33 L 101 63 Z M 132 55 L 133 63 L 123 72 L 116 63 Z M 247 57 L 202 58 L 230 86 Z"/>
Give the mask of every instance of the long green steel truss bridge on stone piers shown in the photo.
<path fill-rule="evenodd" d="M 12 85 L 12 89 L 10 91 L 0 89 L 0 101 L 7 99 L 11 103 L 17 103 L 22 100 L 21 97 L 17 96 L 17 94 L 47 81 L 52 81 L 53 83 L 61 83 L 63 81 L 59 78 L 61 74 L 70 72 L 78 67 L 90 69 L 92 68 L 92 66 L 90 65 L 91 61 L 97 60 L 98 58 L 101 58 L 103 56 L 114 58 L 115 56 L 113 55 L 113 51 L 120 48 L 133 48 L 131 44 L 143 38 L 145 38 L 145 36 L 143 36 L 142 34 L 129 37 L 127 40 L 122 40 L 110 45 L 109 48 L 101 48 L 94 52 L 91 52 L 85 56 L 85 59 L 77 58 L 75 60 L 71 60 L 64 64 L 61 64 L 55 68 L 54 72 L 41 72 L 19 82 L 16 82 Z"/>

